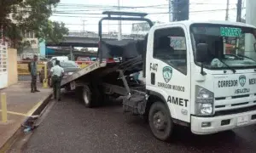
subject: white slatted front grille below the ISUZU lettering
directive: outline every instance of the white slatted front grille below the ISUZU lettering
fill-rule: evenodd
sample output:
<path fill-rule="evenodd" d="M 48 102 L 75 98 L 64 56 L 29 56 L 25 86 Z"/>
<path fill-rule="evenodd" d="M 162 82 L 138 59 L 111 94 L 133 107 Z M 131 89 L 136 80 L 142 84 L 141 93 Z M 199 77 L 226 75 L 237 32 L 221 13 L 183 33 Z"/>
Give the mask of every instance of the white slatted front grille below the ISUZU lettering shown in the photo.
<path fill-rule="evenodd" d="M 256 94 L 215 98 L 215 112 L 234 111 L 256 105 Z"/>

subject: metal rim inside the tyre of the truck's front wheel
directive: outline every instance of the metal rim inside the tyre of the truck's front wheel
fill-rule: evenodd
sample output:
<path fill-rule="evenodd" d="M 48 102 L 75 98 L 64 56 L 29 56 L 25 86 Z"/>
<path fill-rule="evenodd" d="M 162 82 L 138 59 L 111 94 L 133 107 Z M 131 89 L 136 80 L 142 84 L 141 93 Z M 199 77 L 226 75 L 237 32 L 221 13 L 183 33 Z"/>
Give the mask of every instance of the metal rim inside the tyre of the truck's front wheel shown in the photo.
<path fill-rule="evenodd" d="M 153 125 L 157 132 L 165 132 L 167 127 L 167 119 L 165 113 L 156 111 L 153 116 Z"/>

